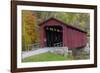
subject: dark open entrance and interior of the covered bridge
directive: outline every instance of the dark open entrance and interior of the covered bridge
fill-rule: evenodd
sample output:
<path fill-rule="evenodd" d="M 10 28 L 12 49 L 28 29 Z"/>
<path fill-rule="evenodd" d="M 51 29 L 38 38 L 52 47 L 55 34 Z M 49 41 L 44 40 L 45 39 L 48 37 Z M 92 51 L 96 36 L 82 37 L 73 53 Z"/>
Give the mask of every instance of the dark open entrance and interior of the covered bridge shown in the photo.
<path fill-rule="evenodd" d="M 63 33 L 60 26 L 47 26 L 45 27 L 46 34 L 46 47 L 62 47 L 63 46 Z"/>

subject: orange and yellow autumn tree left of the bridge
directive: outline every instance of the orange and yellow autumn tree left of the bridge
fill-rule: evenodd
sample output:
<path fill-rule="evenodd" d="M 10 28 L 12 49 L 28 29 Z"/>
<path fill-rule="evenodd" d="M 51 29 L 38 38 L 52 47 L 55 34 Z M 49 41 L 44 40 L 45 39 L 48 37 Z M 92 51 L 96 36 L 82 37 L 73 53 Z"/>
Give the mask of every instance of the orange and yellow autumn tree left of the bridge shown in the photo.
<path fill-rule="evenodd" d="M 27 49 L 29 44 L 38 42 L 37 24 L 35 13 L 22 11 L 22 48 Z"/>

